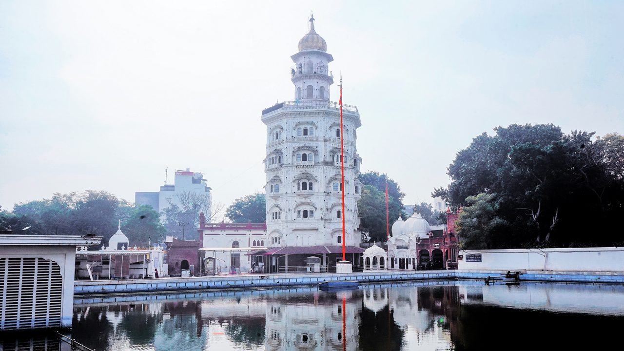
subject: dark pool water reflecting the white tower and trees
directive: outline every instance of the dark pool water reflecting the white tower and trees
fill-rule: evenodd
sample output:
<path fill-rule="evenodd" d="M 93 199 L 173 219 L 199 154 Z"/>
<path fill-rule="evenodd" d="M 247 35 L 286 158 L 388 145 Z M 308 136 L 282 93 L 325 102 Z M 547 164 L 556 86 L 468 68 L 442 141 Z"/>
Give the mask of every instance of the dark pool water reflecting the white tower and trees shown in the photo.
<path fill-rule="evenodd" d="M 576 349 L 608 345 L 624 327 L 615 285 L 436 281 L 75 302 L 72 336 L 115 351 Z"/>

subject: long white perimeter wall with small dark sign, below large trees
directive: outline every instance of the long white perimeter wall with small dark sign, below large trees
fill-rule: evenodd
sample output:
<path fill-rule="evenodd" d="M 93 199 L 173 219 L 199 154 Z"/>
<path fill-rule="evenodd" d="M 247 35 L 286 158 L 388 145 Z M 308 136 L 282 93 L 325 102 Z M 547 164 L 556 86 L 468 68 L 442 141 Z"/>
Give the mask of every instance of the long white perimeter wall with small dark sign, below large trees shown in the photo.
<path fill-rule="evenodd" d="M 466 255 L 479 254 L 482 262 L 466 262 Z M 464 270 L 624 272 L 624 247 L 462 250 L 459 255 Z"/>

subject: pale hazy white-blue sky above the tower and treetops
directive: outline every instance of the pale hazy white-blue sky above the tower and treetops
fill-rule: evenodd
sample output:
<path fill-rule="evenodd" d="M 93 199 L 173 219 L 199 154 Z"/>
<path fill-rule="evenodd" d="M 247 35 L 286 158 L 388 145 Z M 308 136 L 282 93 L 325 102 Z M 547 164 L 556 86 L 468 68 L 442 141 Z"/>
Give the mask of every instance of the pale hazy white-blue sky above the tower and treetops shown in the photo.
<path fill-rule="evenodd" d="M 624 132 L 622 1 L 5 0 L 0 205 L 84 189 L 134 201 L 166 166 L 201 170 L 225 205 L 262 191 L 261 110 L 293 99 L 311 10 L 359 108 L 362 171 L 406 204 L 430 201 L 496 126 Z"/>

